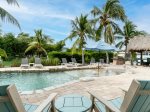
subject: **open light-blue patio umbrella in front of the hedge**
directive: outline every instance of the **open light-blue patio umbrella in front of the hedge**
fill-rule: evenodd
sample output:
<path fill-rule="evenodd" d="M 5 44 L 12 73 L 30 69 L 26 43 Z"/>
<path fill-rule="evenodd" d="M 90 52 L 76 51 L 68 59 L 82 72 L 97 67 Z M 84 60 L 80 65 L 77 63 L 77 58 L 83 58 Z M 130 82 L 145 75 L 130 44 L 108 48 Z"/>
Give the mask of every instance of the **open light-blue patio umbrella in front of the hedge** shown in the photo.
<path fill-rule="evenodd" d="M 106 51 L 107 63 L 109 63 L 108 51 L 119 51 L 119 49 L 116 48 L 114 45 L 107 44 L 104 41 L 99 41 L 97 46 L 93 48 L 86 48 L 86 50 Z"/>

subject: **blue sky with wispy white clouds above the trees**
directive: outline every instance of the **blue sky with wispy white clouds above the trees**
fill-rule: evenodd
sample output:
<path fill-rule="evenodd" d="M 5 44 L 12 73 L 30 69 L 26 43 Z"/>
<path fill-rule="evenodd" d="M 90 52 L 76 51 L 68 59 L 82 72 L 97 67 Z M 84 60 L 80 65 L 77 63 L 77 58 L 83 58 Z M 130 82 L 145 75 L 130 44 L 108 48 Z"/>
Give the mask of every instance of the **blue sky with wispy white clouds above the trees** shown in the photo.
<path fill-rule="evenodd" d="M 17 35 L 26 32 L 34 35 L 35 29 L 43 29 L 55 42 L 66 38 L 71 31 L 71 20 L 82 14 L 89 14 L 94 6 L 101 8 L 106 0 L 18 0 L 19 7 L 8 5 L 6 0 L 0 0 L 0 7 L 11 13 L 20 23 L 22 30 L 2 23 L 4 33 Z M 150 33 L 150 0 L 120 0 L 129 20 L 138 26 L 139 30 Z M 66 43 L 71 46 L 70 41 Z M 94 42 L 88 40 L 88 46 Z"/>

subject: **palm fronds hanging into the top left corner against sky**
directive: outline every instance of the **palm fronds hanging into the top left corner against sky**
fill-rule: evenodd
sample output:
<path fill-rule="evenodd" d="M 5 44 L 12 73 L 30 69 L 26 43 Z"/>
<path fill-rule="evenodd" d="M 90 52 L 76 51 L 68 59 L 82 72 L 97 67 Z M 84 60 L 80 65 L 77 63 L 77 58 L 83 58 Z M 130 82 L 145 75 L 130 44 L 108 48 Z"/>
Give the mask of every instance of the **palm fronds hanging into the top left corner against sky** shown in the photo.
<path fill-rule="evenodd" d="M 16 0 L 5 0 L 8 4 L 14 4 L 19 6 L 18 2 Z M 17 27 L 19 27 L 19 29 L 21 29 L 18 21 L 9 13 L 7 12 L 5 9 L 3 9 L 2 7 L 0 7 L 0 18 L 2 21 L 8 21 L 14 25 L 16 25 Z"/>

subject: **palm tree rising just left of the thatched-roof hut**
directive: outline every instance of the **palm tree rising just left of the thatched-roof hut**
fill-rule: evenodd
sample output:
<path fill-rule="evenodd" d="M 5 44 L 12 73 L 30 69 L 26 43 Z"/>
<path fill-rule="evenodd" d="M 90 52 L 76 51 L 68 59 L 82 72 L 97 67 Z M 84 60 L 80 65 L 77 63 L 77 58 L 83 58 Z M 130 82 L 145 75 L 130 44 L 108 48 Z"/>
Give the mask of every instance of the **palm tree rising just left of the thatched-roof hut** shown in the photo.
<path fill-rule="evenodd" d="M 134 25 L 129 20 L 125 21 L 125 25 L 123 27 L 123 30 L 118 30 L 116 33 L 118 34 L 118 36 L 116 36 L 116 39 L 124 39 L 123 41 L 119 42 L 116 45 L 116 47 L 121 49 L 123 46 L 125 46 L 125 58 L 127 55 L 127 45 L 129 43 L 129 40 L 131 38 L 134 38 L 135 36 L 146 34 L 144 31 L 138 31 L 137 26 Z"/>

